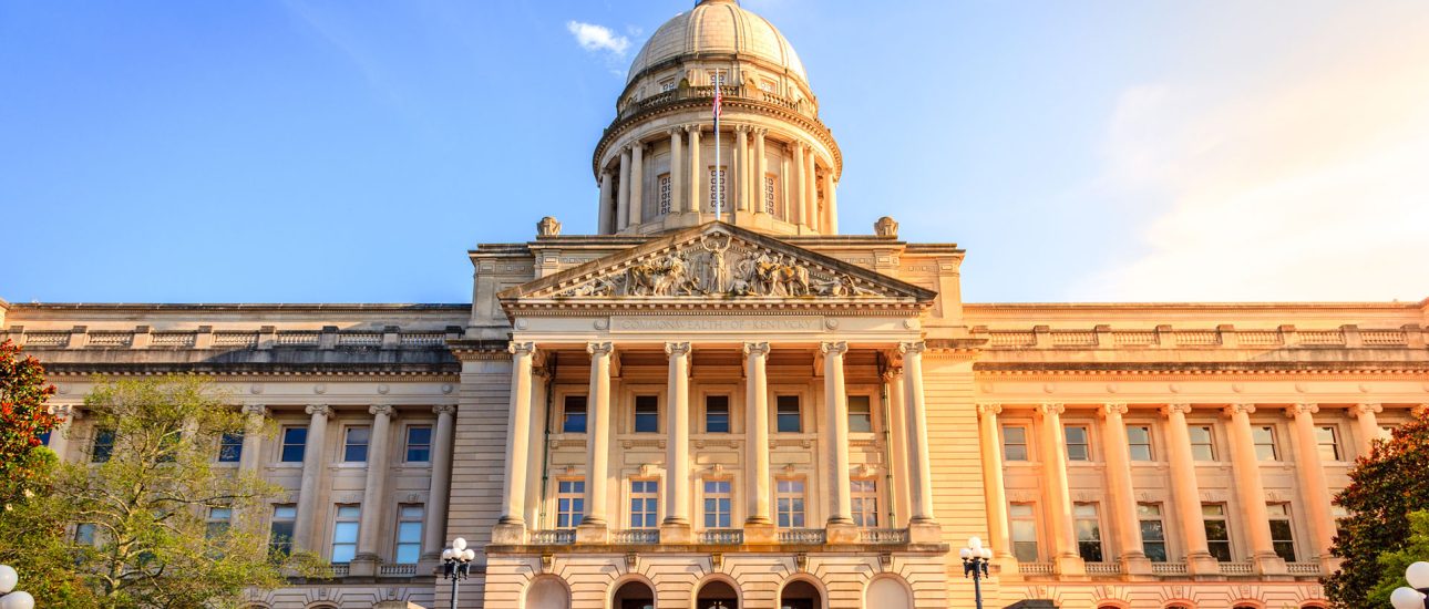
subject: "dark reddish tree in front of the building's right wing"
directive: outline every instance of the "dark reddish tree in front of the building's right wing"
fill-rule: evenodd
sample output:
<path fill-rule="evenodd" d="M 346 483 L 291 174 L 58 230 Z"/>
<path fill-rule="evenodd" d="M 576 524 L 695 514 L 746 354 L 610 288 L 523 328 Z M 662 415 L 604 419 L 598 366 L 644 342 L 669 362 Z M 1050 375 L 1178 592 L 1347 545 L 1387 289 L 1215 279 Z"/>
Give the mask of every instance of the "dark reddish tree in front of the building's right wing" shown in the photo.
<path fill-rule="evenodd" d="M 1409 515 L 1429 509 L 1425 472 L 1429 472 L 1429 417 L 1425 413 L 1396 429 L 1388 442 L 1376 442 L 1368 459 L 1355 462 L 1349 486 L 1335 496 L 1335 503 L 1349 512 L 1330 548 L 1343 563 L 1340 570 L 1325 578 L 1325 592 L 1336 606 L 1388 606 L 1369 600 L 1370 590 L 1386 576 L 1379 558 L 1412 543 Z M 1403 576 L 1402 566 L 1398 576 Z"/>

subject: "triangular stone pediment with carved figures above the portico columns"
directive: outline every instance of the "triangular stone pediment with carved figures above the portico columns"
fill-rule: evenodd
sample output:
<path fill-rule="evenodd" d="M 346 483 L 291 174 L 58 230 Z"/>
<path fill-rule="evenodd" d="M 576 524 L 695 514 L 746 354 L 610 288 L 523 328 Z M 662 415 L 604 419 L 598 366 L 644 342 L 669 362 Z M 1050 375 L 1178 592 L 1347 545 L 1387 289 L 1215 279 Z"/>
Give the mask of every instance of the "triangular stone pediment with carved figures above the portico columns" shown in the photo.
<path fill-rule="evenodd" d="M 776 237 L 710 222 L 497 296 L 510 309 L 659 302 L 925 306 L 936 293 Z"/>

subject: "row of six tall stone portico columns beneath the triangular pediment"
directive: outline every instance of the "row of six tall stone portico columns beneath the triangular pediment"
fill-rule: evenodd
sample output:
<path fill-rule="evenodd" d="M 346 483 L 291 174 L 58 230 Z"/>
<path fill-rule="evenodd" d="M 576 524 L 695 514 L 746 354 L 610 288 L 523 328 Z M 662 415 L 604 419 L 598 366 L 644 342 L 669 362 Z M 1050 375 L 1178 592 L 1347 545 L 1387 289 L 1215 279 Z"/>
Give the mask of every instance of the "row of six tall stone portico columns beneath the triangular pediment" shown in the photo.
<path fill-rule="evenodd" d="M 577 542 L 604 543 L 609 539 L 612 516 L 606 513 L 609 497 L 609 455 L 610 455 L 610 366 L 616 346 L 610 342 L 592 342 L 586 346 L 590 355 L 590 386 L 587 396 L 587 440 L 586 440 L 586 483 L 584 515 L 577 530 Z M 845 392 L 846 342 L 825 342 L 819 345 L 823 357 L 826 427 L 823 440 L 830 450 L 832 463 L 825 467 L 829 492 L 829 518 L 826 522 L 830 543 L 856 542 L 850 499 L 849 453 L 849 407 Z M 923 413 L 922 342 L 906 342 L 897 346 L 902 355 L 902 386 L 899 393 L 905 400 L 893 405 L 900 410 L 902 429 L 896 430 L 897 446 L 903 449 L 900 463 L 907 467 L 907 515 L 910 536 L 919 539 L 919 529 L 936 535 L 933 518 L 932 472 L 927 450 L 927 419 Z M 532 342 L 513 342 L 512 357 L 512 402 L 507 442 L 507 477 L 503 492 L 503 510 L 497 538 L 517 542 L 526 529 L 534 529 L 534 510 L 526 500 L 533 495 L 533 482 L 540 480 L 540 459 L 533 457 L 533 446 L 539 446 L 539 435 L 544 425 L 529 425 L 534 412 L 543 410 L 544 397 L 533 399 L 533 362 L 537 346 Z M 664 343 L 667 355 L 667 420 L 666 426 L 666 518 L 660 528 L 663 543 L 687 543 L 690 535 L 690 343 Z M 770 469 L 769 469 L 769 375 L 766 370 L 770 345 L 749 342 L 742 345 L 746 389 L 746 450 L 749 476 L 746 485 L 747 518 L 745 520 L 746 543 L 773 543 L 773 515 L 770 512 Z M 540 383 L 543 385 L 543 383 Z M 900 433 L 899 433 L 900 432 Z M 887 495 L 895 495 L 887 489 Z M 504 533 L 502 532 L 504 529 Z"/>

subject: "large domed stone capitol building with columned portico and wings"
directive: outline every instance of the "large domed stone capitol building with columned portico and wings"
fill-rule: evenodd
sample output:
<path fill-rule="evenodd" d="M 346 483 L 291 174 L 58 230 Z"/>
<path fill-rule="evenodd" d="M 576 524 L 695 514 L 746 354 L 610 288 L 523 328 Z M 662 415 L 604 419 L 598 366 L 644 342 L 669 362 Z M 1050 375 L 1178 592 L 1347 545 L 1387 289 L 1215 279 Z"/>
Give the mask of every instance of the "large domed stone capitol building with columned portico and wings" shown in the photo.
<path fill-rule="evenodd" d="M 1330 497 L 1429 402 L 1429 300 L 965 300 L 957 244 L 840 227 L 806 67 L 732 0 L 614 110 L 597 234 L 476 246 L 467 303 L 0 303 L 50 446 L 90 459 L 96 373 L 217 379 L 277 429 L 221 465 L 332 563 L 252 608 L 446 608 L 457 536 L 463 608 L 972 608 L 970 536 L 987 608 L 1328 608 Z"/>

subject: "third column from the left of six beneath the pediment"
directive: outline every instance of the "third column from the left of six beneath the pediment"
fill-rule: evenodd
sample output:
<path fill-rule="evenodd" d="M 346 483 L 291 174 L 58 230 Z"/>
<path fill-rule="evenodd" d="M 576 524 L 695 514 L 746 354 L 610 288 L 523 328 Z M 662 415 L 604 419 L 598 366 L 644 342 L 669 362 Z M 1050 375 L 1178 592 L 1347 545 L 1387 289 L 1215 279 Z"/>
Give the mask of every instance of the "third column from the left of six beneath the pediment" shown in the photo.
<path fill-rule="evenodd" d="M 666 440 L 664 522 L 660 542 L 690 542 L 690 343 L 664 343 L 669 355 L 670 420 Z"/>

